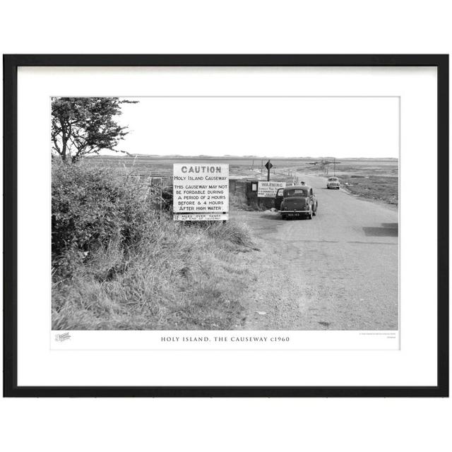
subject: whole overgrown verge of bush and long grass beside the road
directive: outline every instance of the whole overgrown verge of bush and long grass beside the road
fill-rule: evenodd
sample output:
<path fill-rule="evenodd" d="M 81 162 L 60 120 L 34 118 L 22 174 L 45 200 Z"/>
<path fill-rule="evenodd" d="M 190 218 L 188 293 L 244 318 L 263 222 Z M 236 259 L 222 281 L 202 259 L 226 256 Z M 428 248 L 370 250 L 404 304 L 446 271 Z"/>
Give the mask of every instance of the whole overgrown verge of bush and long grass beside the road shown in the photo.
<path fill-rule="evenodd" d="M 86 174 L 92 171 L 96 174 Z M 169 213 L 150 208 L 155 199 L 149 196 L 155 195 L 143 196 L 146 187 L 128 177 L 74 165 L 54 170 L 59 188 L 52 191 L 53 328 L 239 326 L 240 300 L 250 281 L 243 257 L 252 249 L 249 230 L 234 222 L 174 222 Z M 97 186 L 93 198 L 86 181 L 90 189 L 104 182 L 107 188 Z M 77 206 L 76 214 L 68 205 Z M 61 234 L 66 234 L 62 240 Z"/>

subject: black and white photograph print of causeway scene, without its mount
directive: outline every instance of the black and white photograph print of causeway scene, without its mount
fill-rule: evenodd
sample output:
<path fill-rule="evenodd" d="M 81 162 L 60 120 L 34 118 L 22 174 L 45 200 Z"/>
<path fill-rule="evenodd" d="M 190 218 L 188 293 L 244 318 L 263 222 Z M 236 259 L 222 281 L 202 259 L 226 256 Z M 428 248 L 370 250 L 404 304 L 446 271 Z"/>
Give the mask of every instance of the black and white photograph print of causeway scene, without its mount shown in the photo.
<path fill-rule="evenodd" d="M 49 102 L 53 331 L 398 331 L 398 96 Z"/>

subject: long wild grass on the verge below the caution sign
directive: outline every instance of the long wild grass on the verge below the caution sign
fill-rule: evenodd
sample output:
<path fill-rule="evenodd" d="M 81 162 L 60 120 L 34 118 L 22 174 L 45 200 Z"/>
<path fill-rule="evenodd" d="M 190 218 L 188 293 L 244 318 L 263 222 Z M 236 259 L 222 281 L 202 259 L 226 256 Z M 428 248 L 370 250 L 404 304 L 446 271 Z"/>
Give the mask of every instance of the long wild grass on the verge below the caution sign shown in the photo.
<path fill-rule="evenodd" d="M 163 217 L 156 242 L 99 248 L 52 290 L 52 325 L 64 330 L 241 328 L 252 275 L 234 226 Z M 222 230 L 228 233 L 222 233 Z M 234 238 L 235 237 L 235 238 Z M 237 237 L 239 239 L 237 240 Z"/>

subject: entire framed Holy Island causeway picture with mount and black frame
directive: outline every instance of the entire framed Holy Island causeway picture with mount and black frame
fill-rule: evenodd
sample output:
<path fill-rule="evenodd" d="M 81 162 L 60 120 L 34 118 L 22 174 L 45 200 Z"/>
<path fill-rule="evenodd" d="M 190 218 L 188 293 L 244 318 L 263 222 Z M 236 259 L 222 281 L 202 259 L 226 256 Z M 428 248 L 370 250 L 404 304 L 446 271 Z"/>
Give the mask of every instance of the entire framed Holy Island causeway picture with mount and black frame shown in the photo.
<path fill-rule="evenodd" d="M 448 396 L 448 56 L 5 55 L 4 396 Z"/>

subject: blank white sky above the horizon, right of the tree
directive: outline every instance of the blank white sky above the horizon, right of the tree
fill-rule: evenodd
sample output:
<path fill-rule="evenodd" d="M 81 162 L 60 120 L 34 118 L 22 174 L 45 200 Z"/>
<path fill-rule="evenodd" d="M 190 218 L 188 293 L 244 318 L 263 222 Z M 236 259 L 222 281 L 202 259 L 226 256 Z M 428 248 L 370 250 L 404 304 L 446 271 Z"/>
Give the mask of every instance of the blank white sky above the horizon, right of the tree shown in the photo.
<path fill-rule="evenodd" d="M 131 154 L 398 157 L 398 97 L 129 99 L 118 148 Z"/>

